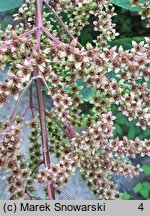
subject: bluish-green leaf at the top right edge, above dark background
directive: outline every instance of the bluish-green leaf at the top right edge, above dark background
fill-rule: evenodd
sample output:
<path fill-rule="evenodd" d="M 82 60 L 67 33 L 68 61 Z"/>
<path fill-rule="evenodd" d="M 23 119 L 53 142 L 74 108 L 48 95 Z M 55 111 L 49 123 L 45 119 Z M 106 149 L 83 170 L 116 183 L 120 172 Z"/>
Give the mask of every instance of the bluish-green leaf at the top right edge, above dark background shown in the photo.
<path fill-rule="evenodd" d="M 149 2 L 150 0 L 140 0 L 140 3 Z M 133 6 L 130 0 L 112 0 L 112 3 L 114 5 L 117 5 L 119 7 L 122 7 L 126 10 L 130 11 L 140 11 L 140 7 Z"/>

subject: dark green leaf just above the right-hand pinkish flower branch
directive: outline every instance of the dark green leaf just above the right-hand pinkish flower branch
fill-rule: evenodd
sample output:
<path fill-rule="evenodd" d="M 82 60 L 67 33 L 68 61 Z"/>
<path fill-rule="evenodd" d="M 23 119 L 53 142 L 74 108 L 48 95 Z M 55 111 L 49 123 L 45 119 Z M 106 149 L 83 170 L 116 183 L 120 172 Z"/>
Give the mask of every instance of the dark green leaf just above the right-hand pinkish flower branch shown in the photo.
<path fill-rule="evenodd" d="M 132 48 L 132 41 L 140 43 L 141 41 L 144 41 L 144 37 L 116 39 L 116 40 L 112 40 L 111 42 L 109 42 L 109 45 L 111 47 L 113 47 L 113 46 L 117 46 L 117 47 L 122 46 L 125 50 L 129 50 L 129 49 Z"/>

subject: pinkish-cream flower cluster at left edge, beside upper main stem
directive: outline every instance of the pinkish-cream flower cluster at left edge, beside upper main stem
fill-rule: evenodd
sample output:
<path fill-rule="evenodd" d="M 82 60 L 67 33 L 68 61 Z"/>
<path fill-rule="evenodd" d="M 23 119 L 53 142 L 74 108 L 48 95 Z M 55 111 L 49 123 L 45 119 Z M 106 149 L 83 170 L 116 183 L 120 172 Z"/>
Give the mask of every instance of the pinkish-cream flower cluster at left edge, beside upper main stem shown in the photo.
<path fill-rule="evenodd" d="M 16 42 L 19 40 L 16 39 Z M 25 40 L 26 41 L 26 40 Z M 25 42 L 24 41 L 24 42 Z M 0 48 L 0 56 L 2 56 L 3 59 L 1 61 L 3 62 L 1 68 L 3 69 L 7 62 L 11 61 L 12 59 L 15 60 L 18 58 L 18 54 L 16 53 L 16 50 L 12 47 L 13 40 L 10 41 L 10 45 L 5 47 L 5 44 L 2 48 Z M 26 43 L 26 42 L 25 42 Z M 7 79 L 5 82 L 0 82 L 0 106 L 2 107 L 5 103 L 8 103 L 9 96 L 12 95 L 15 100 L 18 99 L 19 93 L 23 90 L 23 88 L 27 85 L 31 74 L 33 72 L 32 69 L 32 63 L 25 59 L 26 56 L 24 54 L 26 53 L 28 56 L 28 48 L 25 47 L 25 44 L 22 42 L 22 48 L 16 47 L 17 52 L 21 56 L 21 62 L 11 63 L 10 68 L 7 73 Z M 5 47 L 5 48 L 4 48 Z M 13 50 L 9 50 L 9 49 Z M 19 51 L 18 51 L 19 49 Z M 20 50 L 22 50 L 22 54 L 20 54 Z M 13 56 L 14 55 L 14 56 Z M 5 58 L 7 61 L 5 61 Z M 12 58 L 12 59 L 11 59 Z"/>

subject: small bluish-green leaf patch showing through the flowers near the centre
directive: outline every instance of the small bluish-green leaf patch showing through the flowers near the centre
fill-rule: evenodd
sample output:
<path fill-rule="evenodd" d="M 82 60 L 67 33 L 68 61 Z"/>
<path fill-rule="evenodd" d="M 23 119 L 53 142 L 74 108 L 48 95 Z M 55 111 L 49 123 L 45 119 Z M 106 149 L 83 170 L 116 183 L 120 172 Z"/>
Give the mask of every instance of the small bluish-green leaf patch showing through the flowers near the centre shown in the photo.
<path fill-rule="evenodd" d="M 82 100 L 89 101 L 95 94 L 95 91 L 92 88 L 88 88 L 87 83 L 84 82 L 82 79 L 77 80 L 77 85 L 83 87 L 79 93 Z"/>

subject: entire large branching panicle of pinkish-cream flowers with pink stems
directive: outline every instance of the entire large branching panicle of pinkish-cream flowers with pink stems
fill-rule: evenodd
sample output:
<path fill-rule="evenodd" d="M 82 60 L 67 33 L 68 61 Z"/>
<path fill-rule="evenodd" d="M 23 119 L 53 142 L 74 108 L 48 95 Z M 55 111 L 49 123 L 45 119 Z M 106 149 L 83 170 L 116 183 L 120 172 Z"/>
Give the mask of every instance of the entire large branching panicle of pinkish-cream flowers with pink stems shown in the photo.
<path fill-rule="evenodd" d="M 10 63 L 6 80 L 0 82 L 0 106 L 11 95 L 17 100 L 0 140 L 0 168 L 12 171 L 11 199 L 32 199 L 29 192 L 35 191 L 35 182 L 47 183 L 48 198 L 53 199 L 53 186 L 67 183 L 77 168 L 98 199 L 118 199 L 121 194 L 110 176 L 133 177 L 142 171 L 126 157 L 150 156 L 149 140 L 114 137 L 112 106 L 129 121 L 136 119 L 142 130 L 149 129 L 150 39 L 133 41 L 130 50 L 110 47 L 108 42 L 118 35 L 114 15 L 110 0 L 43 0 L 43 5 L 26 0 L 14 16 L 24 23 L 0 31 L 0 68 Z M 89 24 L 96 39 L 83 46 L 77 37 Z M 15 116 L 28 89 L 29 102 L 21 113 L 24 117 L 31 111 L 32 116 L 26 163 L 19 154 L 22 124 Z M 43 90 L 50 99 L 49 110 Z M 51 162 L 50 153 L 58 163 Z"/>

